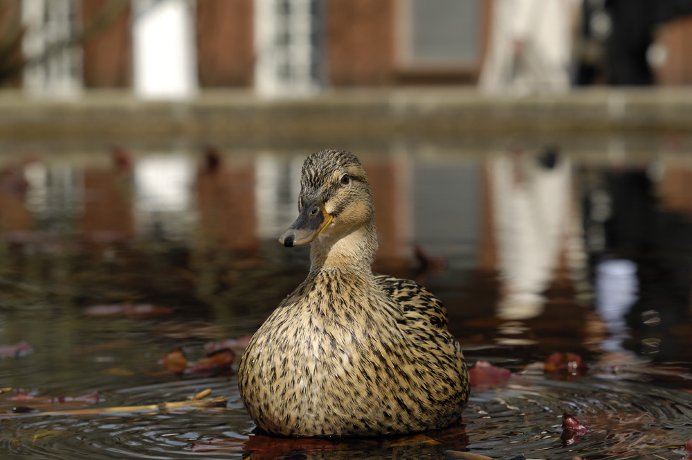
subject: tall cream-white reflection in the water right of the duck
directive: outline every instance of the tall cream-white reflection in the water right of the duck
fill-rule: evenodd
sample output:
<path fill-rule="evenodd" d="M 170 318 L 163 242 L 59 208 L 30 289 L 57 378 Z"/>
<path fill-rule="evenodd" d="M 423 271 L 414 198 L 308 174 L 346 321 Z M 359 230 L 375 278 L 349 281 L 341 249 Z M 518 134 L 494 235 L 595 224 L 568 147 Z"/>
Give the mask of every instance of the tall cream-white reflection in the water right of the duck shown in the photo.
<path fill-rule="evenodd" d="M 570 161 L 554 148 L 538 157 L 500 154 L 488 165 L 502 298 L 501 319 L 543 311 L 542 293 L 556 273 L 563 243 L 574 231 Z"/>

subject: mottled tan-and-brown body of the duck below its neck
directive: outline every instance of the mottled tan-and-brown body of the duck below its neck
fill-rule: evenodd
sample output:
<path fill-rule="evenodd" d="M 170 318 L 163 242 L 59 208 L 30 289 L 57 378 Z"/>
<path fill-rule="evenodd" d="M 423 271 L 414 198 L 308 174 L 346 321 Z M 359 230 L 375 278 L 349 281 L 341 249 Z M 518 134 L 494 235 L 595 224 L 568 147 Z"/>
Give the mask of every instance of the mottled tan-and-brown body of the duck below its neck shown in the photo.
<path fill-rule="evenodd" d="M 260 427 L 289 436 L 391 434 L 459 418 L 468 387 L 458 342 L 421 326 L 420 309 L 404 312 L 372 283 L 311 274 L 257 331 L 242 365 L 260 367 L 242 372 L 240 384 Z M 257 360 L 260 353 L 271 360 Z M 257 386 L 260 375 L 266 387 Z"/>

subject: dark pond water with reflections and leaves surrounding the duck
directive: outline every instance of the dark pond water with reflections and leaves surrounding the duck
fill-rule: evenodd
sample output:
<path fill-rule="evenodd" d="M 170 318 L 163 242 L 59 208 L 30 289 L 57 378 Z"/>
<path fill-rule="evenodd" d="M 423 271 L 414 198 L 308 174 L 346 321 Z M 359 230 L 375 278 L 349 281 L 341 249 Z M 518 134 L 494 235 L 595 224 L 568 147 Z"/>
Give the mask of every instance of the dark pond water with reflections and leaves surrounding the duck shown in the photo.
<path fill-rule="evenodd" d="M 7 152 L 0 452 L 685 458 L 692 156 L 686 139 L 646 145 L 635 154 L 617 139 L 353 148 L 376 200 L 374 269 L 424 283 L 445 303 L 468 363 L 513 374 L 475 386 L 463 420 L 446 430 L 307 441 L 255 431 L 237 358 L 230 369 L 199 363 L 210 347 L 242 353 L 307 274 L 309 248 L 276 240 L 297 215 L 300 166 L 316 149 Z M 179 347 L 189 367 L 174 375 L 162 360 Z M 553 353 L 585 365 L 546 372 Z M 204 389 L 225 403 L 158 407 Z M 588 430 L 563 432 L 564 412 Z"/>

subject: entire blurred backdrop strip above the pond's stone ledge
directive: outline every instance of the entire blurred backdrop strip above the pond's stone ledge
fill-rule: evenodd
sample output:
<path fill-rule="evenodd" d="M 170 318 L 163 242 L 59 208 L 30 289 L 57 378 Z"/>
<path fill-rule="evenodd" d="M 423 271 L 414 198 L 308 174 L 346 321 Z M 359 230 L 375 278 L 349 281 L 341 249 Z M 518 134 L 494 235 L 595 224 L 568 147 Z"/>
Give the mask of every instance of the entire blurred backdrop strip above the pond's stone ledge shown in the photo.
<path fill-rule="evenodd" d="M 0 84 L 75 97 L 689 85 L 686 0 L 3 0 Z"/>

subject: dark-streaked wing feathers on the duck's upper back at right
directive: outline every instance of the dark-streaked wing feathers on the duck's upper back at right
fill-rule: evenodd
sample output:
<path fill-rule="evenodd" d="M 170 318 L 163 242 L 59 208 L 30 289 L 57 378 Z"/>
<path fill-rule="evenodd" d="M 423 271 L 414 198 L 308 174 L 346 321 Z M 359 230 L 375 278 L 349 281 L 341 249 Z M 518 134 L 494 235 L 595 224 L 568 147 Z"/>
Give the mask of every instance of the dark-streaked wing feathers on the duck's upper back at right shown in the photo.
<path fill-rule="evenodd" d="M 401 308 L 410 326 L 447 330 L 446 308 L 423 285 L 388 275 L 375 275 L 375 282 Z"/>

